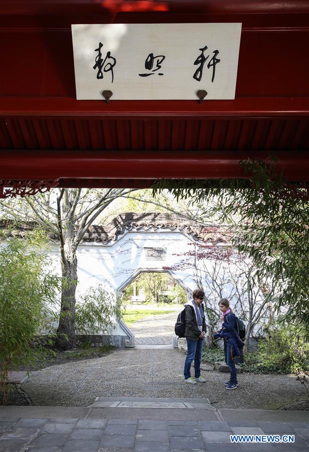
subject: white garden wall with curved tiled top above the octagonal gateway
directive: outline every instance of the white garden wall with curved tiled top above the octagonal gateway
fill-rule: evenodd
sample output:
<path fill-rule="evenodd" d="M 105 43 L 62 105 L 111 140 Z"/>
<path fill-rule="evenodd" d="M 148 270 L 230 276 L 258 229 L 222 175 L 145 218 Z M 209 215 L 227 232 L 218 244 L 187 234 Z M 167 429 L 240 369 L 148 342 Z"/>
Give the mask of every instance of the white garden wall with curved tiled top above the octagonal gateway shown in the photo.
<path fill-rule="evenodd" d="M 123 217 L 129 215 L 134 217 L 135 214 L 123 214 Z M 234 265 L 213 257 L 219 248 L 231 250 L 224 233 L 218 227 L 208 227 L 203 237 L 201 227 L 200 233 L 198 227 L 187 225 L 184 219 L 164 218 L 163 214 L 159 214 L 158 219 L 158 214 L 147 215 L 149 218 L 144 216 L 140 220 L 139 217 L 139 222 L 129 218 L 122 224 L 119 216 L 110 223 L 116 226 L 109 232 L 100 226 L 93 227 L 77 250 L 77 299 L 97 284 L 103 284 L 116 298 L 140 272 L 168 271 L 189 296 L 199 285 L 205 290 L 209 307 L 217 312 L 218 301 L 226 297 L 241 315 L 247 305 L 244 278 L 239 277 L 245 263 L 237 261 Z M 207 248 L 212 248 L 215 253 L 208 253 Z M 60 274 L 59 245 L 53 242 L 51 249 L 53 270 Z M 258 306 L 263 301 L 258 287 L 254 288 L 253 294 Z M 258 328 L 259 325 L 255 330 Z M 100 331 L 97 333 L 101 334 Z M 115 322 L 105 339 L 118 346 L 134 346 L 134 337 L 122 321 Z"/>

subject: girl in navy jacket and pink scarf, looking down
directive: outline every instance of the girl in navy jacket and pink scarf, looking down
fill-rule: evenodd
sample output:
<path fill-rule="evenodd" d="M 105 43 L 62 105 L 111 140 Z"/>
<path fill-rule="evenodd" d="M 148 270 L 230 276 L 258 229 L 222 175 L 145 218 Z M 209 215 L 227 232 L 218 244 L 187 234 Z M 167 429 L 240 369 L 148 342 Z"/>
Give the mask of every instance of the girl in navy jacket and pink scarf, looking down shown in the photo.
<path fill-rule="evenodd" d="M 230 302 L 226 298 L 219 301 L 221 311 L 220 321 L 222 328 L 214 334 L 215 339 L 222 337 L 224 339 L 225 362 L 230 371 L 230 380 L 225 382 L 225 389 L 236 389 L 238 386 L 237 372 L 235 364 L 241 362 L 241 349 L 244 343 L 239 338 L 236 330 L 236 316 L 230 308 Z"/>

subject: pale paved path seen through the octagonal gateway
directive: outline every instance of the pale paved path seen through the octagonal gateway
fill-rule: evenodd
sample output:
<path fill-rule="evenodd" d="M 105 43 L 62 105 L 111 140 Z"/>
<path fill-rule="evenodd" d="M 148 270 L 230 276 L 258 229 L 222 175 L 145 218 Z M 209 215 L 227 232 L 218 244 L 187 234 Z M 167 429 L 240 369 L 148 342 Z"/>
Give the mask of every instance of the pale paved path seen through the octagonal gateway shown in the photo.
<path fill-rule="evenodd" d="M 133 323 L 130 330 L 135 336 L 135 344 L 171 345 L 177 315 L 182 309 L 181 306 L 170 314 L 147 316 Z"/>

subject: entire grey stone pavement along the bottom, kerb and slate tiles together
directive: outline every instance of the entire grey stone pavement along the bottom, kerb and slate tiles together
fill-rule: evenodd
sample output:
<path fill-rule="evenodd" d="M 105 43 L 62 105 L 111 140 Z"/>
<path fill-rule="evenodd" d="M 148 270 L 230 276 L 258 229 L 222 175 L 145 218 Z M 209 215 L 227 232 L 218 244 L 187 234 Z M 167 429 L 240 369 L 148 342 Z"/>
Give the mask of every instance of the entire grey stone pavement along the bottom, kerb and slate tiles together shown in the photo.
<path fill-rule="evenodd" d="M 139 408 L 136 416 L 134 409 L 114 407 L 111 413 L 110 408 L 101 407 L 87 409 L 84 416 L 79 413 L 75 417 L 74 407 L 64 413 L 66 408 L 49 408 L 48 415 L 46 407 L 2 407 L 0 452 L 307 452 L 309 449 L 305 412 L 158 408 L 152 409 L 151 418 L 147 408 Z M 117 410 L 117 417 L 106 416 L 115 415 Z M 236 411 L 247 420 L 239 421 Z M 206 413 L 213 417 L 208 419 Z M 267 422 L 270 413 L 272 421 Z M 293 435 L 294 442 L 232 444 L 231 434 L 259 435 L 261 440 L 260 435 L 279 435 L 272 440 Z"/>

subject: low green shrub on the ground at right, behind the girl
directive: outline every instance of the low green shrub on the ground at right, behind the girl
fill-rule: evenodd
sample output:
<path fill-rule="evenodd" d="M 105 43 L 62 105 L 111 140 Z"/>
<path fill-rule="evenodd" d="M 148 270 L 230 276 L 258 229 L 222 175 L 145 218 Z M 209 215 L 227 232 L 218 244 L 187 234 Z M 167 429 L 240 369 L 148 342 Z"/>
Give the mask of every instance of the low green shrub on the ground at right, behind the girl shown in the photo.
<path fill-rule="evenodd" d="M 297 334 L 296 334 L 297 329 Z M 241 365 L 245 372 L 259 374 L 297 374 L 309 372 L 309 344 L 299 327 L 272 326 L 269 336 L 259 341 L 259 349 L 245 355 Z"/>

